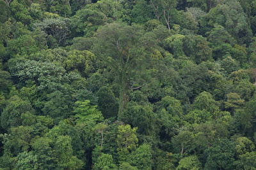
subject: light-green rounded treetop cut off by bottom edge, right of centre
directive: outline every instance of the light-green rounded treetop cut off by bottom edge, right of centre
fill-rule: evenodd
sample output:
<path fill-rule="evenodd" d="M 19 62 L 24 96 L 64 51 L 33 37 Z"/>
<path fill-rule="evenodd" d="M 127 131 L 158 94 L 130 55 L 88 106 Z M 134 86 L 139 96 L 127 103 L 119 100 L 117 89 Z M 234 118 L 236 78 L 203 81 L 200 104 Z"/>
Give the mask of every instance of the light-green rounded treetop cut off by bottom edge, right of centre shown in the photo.
<path fill-rule="evenodd" d="M 200 170 L 202 169 L 202 164 L 196 157 L 196 155 L 192 155 L 189 157 L 184 157 L 179 161 L 179 166 L 177 167 L 177 170 Z"/>

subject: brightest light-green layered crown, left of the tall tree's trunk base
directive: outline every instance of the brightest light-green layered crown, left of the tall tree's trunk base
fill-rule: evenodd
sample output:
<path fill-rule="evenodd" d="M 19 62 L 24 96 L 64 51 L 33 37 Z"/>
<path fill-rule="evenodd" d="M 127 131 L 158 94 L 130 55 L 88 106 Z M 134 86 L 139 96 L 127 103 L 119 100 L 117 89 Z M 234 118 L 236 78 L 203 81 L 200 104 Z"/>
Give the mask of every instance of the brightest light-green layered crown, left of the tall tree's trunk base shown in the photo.
<path fill-rule="evenodd" d="M 76 101 L 74 111 L 78 123 L 101 122 L 102 114 L 97 110 L 97 106 L 92 106 L 90 101 Z"/>

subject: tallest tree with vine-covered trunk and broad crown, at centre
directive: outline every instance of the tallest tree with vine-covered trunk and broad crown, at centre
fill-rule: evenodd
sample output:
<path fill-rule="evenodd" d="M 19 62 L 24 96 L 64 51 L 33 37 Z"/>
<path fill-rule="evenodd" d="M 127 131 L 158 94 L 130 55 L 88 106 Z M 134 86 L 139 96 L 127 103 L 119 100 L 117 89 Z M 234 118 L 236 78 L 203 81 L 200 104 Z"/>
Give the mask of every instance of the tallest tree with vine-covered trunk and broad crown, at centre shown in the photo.
<path fill-rule="evenodd" d="M 129 101 L 132 81 L 136 81 L 136 76 L 149 62 L 147 52 L 150 47 L 150 41 L 138 25 L 113 23 L 97 31 L 93 51 L 115 71 L 120 86 L 118 118 L 122 117 Z"/>

